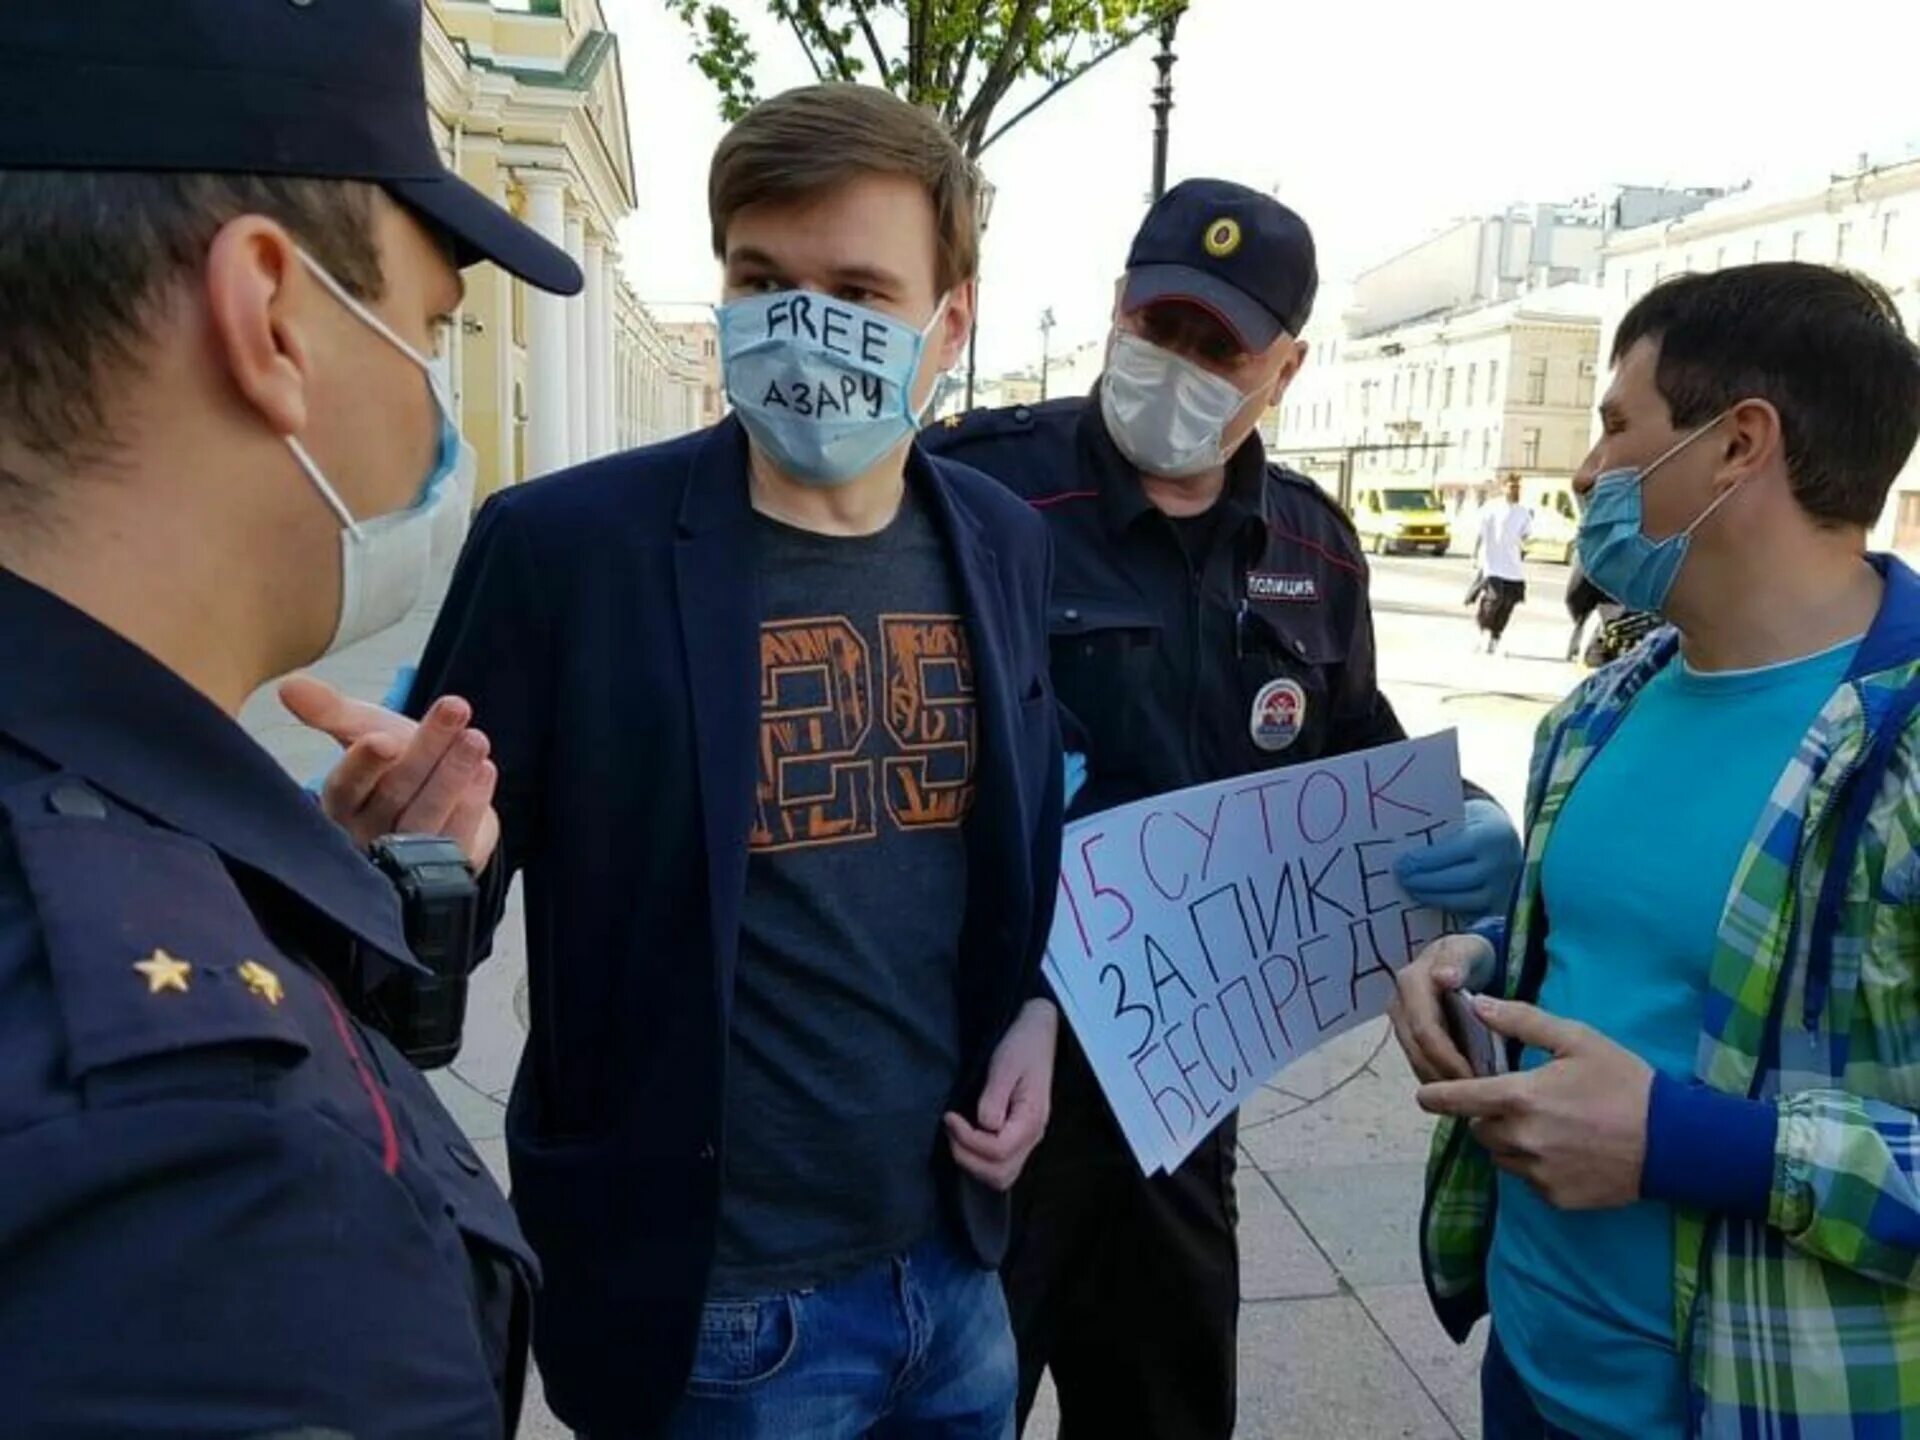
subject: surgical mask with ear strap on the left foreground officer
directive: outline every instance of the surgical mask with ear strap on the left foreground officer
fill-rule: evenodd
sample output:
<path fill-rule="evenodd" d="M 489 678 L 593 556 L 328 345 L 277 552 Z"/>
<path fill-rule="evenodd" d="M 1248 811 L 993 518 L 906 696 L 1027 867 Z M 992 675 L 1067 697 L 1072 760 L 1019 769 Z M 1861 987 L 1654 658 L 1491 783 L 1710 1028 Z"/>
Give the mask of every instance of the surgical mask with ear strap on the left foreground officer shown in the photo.
<path fill-rule="evenodd" d="M 300 252 L 300 259 L 334 300 L 420 367 L 440 411 L 440 451 L 420 493 L 405 509 L 372 520 L 355 520 L 300 438 L 286 436 L 286 447 L 294 451 L 300 468 L 340 518 L 340 616 L 334 637 L 326 643 L 326 655 L 332 655 L 399 624 L 420 603 L 428 586 L 453 568 L 472 516 L 478 457 L 453 422 L 453 407 L 440 392 L 434 363 L 349 296 L 319 261 L 305 252 Z"/>

